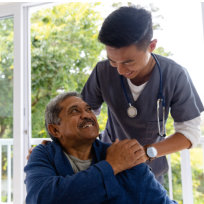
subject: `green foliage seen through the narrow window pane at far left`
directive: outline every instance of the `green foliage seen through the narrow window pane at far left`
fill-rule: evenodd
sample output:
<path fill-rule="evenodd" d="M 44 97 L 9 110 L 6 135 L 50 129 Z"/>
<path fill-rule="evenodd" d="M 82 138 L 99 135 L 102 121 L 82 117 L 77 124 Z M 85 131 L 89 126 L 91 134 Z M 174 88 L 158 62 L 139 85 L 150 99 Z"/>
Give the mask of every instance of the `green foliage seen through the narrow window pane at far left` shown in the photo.
<path fill-rule="evenodd" d="M 13 18 L 0 19 L 0 138 L 12 137 Z"/>

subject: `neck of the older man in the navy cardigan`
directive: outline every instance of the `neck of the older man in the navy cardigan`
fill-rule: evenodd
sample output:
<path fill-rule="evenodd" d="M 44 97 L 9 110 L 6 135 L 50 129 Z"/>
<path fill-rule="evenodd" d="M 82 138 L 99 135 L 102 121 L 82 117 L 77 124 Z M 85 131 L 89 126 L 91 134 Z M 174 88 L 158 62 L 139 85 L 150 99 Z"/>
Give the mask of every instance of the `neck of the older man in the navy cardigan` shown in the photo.
<path fill-rule="evenodd" d="M 64 146 L 64 151 L 81 160 L 88 160 L 92 158 L 92 144 L 77 144 Z"/>

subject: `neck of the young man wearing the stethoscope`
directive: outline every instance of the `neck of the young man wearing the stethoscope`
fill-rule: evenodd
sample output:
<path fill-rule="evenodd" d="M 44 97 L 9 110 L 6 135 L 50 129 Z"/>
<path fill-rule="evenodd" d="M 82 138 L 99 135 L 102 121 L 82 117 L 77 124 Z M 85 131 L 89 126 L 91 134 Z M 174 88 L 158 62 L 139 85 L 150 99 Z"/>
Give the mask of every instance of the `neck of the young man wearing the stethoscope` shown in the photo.
<path fill-rule="evenodd" d="M 130 81 L 136 85 L 136 86 L 140 86 L 142 84 L 144 84 L 145 82 L 147 82 L 152 74 L 154 65 L 155 65 L 155 60 L 153 59 L 152 56 L 150 56 L 149 62 L 147 63 L 146 67 L 144 68 L 144 71 L 139 74 L 138 76 L 136 76 L 133 79 L 130 79 Z"/>

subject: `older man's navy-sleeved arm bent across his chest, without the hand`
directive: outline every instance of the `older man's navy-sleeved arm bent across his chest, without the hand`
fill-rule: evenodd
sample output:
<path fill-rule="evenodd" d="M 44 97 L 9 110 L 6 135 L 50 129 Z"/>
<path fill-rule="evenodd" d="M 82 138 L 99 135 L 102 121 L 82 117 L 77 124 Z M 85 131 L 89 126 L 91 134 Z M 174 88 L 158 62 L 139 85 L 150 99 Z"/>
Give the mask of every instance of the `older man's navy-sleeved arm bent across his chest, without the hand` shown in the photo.
<path fill-rule="evenodd" d="M 120 195 L 120 186 L 106 161 L 66 176 L 58 175 L 56 168 L 45 147 L 33 150 L 25 167 L 26 203 L 95 204 Z"/>

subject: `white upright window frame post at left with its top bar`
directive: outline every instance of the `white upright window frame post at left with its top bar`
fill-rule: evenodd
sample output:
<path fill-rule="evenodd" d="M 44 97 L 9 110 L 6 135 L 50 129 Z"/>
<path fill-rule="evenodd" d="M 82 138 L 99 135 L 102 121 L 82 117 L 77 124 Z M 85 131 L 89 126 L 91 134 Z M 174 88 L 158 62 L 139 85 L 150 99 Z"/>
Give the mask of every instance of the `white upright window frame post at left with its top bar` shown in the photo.
<path fill-rule="evenodd" d="M 24 166 L 31 139 L 31 63 L 29 8 L 45 3 L 0 4 L 0 18 L 14 20 L 13 203 L 25 203 Z"/>

